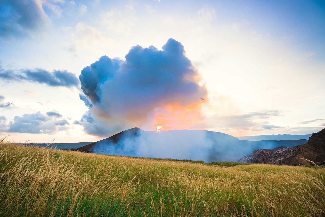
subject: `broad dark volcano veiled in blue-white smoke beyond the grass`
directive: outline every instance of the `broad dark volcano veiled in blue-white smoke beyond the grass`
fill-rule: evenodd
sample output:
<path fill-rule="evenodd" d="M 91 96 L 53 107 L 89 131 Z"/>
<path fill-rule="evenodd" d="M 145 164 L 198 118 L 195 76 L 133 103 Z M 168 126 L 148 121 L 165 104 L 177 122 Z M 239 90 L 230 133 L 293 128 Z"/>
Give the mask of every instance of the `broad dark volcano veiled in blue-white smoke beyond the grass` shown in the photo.
<path fill-rule="evenodd" d="M 235 161 L 259 148 L 295 146 L 306 140 L 246 141 L 208 130 L 145 131 L 132 128 L 73 151 L 107 155 Z"/>

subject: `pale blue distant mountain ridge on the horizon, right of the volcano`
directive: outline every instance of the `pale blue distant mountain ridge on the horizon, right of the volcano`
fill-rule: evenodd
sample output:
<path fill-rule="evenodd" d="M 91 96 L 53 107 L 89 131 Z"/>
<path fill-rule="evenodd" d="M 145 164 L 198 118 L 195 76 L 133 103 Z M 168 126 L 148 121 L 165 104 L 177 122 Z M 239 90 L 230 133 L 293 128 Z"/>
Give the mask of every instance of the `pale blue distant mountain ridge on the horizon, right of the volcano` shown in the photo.
<path fill-rule="evenodd" d="M 239 136 L 240 140 L 261 141 L 261 140 L 308 140 L 312 134 L 305 135 L 291 135 L 291 134 L 278 134 L 278 135 L 260 135 L 260 136 Z"/>

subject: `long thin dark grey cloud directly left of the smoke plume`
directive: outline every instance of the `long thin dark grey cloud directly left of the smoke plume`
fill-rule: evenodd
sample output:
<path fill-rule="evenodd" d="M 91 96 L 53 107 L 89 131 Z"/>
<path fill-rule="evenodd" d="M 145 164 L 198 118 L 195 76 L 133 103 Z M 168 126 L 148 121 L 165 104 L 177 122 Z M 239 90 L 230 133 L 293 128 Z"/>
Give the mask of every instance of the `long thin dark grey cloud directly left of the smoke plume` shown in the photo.
<path fill-rule="evenodd" d="M 44 69 L 22 69 L 17 72 L 4 70 L 0 65 L 0 79 L 8 81 L 30 81 L 40 84 L 46 84 L 52 87 L 77 87 L 78 78 L 66 70 L 54 70 L 52 73 Z"/>

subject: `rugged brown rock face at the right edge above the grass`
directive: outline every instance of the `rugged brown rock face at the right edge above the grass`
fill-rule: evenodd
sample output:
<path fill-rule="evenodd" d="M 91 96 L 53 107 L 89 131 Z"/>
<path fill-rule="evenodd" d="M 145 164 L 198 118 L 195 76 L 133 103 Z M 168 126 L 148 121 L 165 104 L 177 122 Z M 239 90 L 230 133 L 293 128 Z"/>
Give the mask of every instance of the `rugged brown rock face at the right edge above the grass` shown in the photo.
<path fill-rule="evenodd" d="M 325 161 L 325 129 L 313 133 L 306 144 L 293 147 L 277 147 L 274 149 L 257 149 L 253 155 L 244 156 L 238 162 L 307 165 Z"/>

